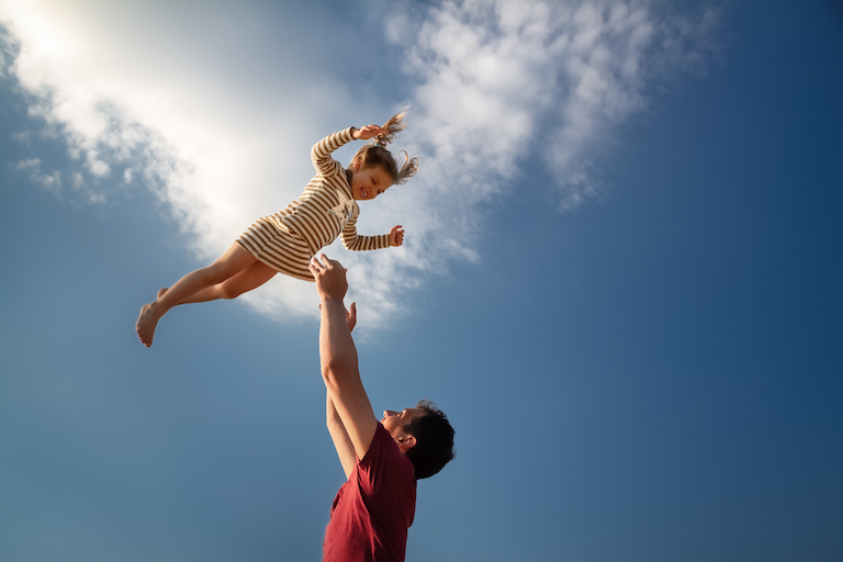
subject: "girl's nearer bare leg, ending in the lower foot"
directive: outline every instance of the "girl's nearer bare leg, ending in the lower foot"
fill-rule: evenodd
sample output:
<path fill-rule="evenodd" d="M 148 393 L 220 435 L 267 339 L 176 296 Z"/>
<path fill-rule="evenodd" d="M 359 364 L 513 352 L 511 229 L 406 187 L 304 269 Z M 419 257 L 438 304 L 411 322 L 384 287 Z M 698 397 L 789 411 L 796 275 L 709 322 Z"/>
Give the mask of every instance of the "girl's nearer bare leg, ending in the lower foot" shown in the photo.
<path fill-rule="evenodd" d="M 160 295 L 155 302 L 151 302 L 140 308 L 140 315 L 137 317 L 135 329 L 140 341 L 149 347 L 153 345 L 153 336 L 158 319 L 167 311 L 188 299 L 193 293 L 222 283 L 255 263 L 257 258 L 246 248 L 235 243 L 226 250 L 223 256 L 207 267 L 198 269 L 179 279 L 168 291 Z"/>

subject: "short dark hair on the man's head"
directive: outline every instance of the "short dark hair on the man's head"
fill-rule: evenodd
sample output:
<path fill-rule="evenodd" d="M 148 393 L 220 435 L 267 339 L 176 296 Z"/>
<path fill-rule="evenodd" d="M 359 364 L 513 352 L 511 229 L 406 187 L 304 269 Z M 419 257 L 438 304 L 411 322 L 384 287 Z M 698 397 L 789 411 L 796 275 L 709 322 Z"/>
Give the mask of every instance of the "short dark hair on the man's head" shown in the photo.
<path fill-rule="evenodd" d="M 448 416 L 430 401 L 423 400 L 417 408 L 427 414 L 404 426 L 404 431 L 416 438 L 416 445 L 407 451 L 407 458 L 416 469 L 416 479 L 432 476 L 453 459 L 453 428 Z"/>

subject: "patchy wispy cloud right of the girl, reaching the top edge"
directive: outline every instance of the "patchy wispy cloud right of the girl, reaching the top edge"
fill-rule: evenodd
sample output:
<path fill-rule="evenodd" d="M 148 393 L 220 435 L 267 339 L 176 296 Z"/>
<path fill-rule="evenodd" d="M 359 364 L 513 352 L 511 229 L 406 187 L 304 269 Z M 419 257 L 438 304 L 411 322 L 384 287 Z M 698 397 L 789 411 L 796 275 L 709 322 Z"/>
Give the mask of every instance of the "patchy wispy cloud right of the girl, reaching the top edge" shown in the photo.
<path fill-rule="evenodd" d="M 619 128 L 655 91 L 704 68 L 716 23 L 711 8 L 643 1 L 397 4 L 385 33 L 405 55 L 409 150 L 424 164 L 412 195 L 375 211 L 412 233 L 401 255 L 367 260 L 378 297 L 400 302 L 392 279 L 480 259 L 472 248 L 493 227 L 482 210 L 533 188 L 528 159 L 546 162 L 553 180 L 535 189 L 555 190 L 561 212 L 597 196 Z"/>

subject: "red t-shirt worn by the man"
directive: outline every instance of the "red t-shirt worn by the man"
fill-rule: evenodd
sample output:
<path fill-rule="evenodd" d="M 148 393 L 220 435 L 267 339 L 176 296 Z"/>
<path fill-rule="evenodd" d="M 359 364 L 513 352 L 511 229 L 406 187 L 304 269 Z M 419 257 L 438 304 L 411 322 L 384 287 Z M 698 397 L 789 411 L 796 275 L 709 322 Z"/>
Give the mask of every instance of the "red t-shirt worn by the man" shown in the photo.
<path fill-rule="evenodd" d="M 330 508 L 323 562 L 403 561 L 416 513 L 413 463 L 380 423 Z"/>

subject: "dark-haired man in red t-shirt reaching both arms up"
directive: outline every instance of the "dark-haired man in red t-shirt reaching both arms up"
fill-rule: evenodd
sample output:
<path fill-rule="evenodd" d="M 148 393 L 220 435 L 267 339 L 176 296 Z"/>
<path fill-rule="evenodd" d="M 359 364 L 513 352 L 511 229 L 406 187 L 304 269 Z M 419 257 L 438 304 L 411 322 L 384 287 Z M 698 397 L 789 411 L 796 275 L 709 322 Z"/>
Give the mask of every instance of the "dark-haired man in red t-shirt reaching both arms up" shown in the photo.
<path fill-rule="evenodd" d="M 324 562 L 403 561 L 416 510 L 416 481 L 453 459 L 453 428 L 429 402 L 402 412 L 372 412 L 358 371 L 346 311 L 346 270 L 321 254 L 310 266 L 322 301 L 319 357 L 327 387 L 327 426 L 348 479 L 325 530 Z"/>

